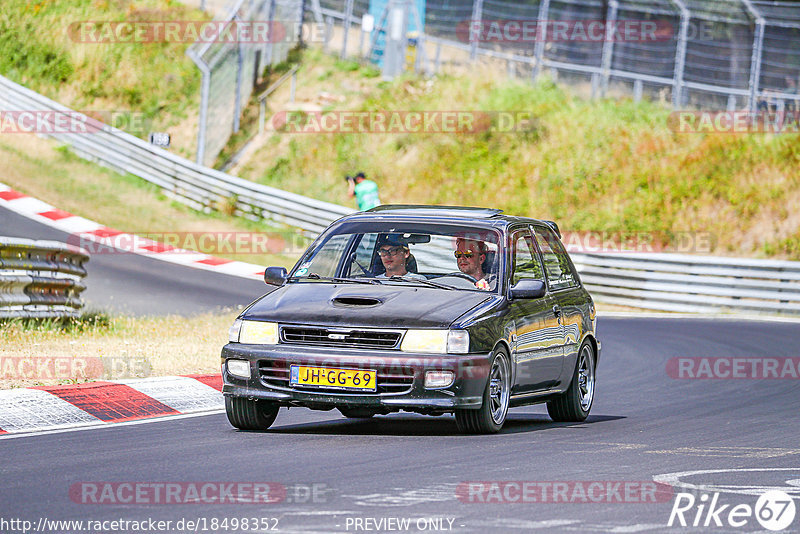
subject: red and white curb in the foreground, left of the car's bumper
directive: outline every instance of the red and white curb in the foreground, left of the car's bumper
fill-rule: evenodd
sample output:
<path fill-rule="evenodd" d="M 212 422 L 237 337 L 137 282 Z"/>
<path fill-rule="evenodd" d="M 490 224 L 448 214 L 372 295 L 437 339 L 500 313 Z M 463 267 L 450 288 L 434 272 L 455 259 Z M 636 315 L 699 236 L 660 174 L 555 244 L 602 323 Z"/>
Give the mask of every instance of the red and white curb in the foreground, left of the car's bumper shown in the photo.
<path fill-rule="evenodd" d="M 224 409 L 222 376 L 166 376 L 0 391 L 0 435 Z"/>

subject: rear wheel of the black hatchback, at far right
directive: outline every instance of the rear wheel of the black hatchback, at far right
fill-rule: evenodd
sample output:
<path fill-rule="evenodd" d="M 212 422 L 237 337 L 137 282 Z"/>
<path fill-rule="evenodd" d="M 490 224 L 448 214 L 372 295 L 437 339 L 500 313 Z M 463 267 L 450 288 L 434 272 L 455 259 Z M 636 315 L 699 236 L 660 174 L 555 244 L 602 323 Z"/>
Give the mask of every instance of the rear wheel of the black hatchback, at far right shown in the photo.
<path fill-rule="evenodd" d="M 594 402 L 596 362 L 591 342 L 584 341 L 578 351 L 578 361 L 569 388 L 563 395 L 547 403 L 547 413 L 553 421 L 580 423 L 589 417 Z"/>

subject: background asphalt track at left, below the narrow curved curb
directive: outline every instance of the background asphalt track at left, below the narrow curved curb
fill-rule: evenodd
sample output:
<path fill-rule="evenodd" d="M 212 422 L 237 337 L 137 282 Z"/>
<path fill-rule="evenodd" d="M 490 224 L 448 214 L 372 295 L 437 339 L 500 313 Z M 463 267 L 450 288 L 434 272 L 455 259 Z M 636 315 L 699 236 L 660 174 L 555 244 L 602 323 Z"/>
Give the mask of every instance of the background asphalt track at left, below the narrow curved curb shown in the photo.
<path fill-rule="evenodd" d="M 0 208 L 0 235 L 66 242 L 69 234 Z M 191 269 L 137 254 L 95 254 L 86 266 L 87 309 L 130 315 L 194 315 L 246 306 L 263 282 Z"/>

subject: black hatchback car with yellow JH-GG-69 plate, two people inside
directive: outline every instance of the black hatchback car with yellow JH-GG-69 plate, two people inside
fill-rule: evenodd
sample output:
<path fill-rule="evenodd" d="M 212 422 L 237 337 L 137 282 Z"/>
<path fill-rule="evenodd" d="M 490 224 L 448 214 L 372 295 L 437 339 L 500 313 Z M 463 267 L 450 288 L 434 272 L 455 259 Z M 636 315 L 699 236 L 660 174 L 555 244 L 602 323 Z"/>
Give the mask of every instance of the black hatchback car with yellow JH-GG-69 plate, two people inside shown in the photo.
<path fill-rule="evenodd" d="M 331 224 L 222 349 L 237 428 L 281 406 L 371 417 L 454 413 L 497 432 L 509 407 L 583 421 L 595 391 L 595 307 L 551 221 L 500 210 L 381 206 Z"/>

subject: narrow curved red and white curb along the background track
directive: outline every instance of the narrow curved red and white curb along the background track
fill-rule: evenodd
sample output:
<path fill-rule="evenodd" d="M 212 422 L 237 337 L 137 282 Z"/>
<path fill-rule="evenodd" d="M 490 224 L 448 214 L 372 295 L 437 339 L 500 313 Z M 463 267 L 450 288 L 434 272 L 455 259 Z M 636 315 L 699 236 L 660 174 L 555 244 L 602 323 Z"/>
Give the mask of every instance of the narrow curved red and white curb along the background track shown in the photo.
<path fill-rule="evenodd" d="M 261 265 L 218 258 L 209 254 L 176 248 L 151 239 L 134 237 L 132 234 L 120 232 L 57 209 L 46 202 L 15 191 L 3 183 L 0 183 L 0 206 L 41 224 L 80 236 L 81 240 L 92 240 L 99 245 L 121 250 L 123 253 L 140 254 L 186 267 L 252 280 L 263 280 L 264 278 L 264 267 Z M 123 250 L 116 247 L 115 243 L 126 243 L 130 246 L 126 246 Z"/>

